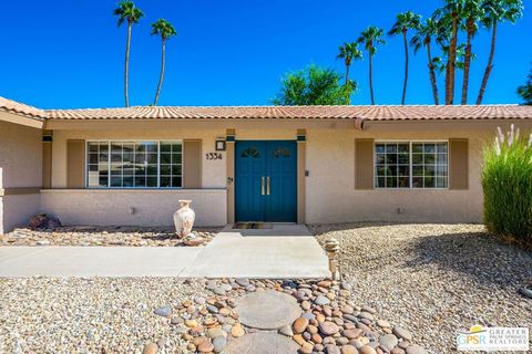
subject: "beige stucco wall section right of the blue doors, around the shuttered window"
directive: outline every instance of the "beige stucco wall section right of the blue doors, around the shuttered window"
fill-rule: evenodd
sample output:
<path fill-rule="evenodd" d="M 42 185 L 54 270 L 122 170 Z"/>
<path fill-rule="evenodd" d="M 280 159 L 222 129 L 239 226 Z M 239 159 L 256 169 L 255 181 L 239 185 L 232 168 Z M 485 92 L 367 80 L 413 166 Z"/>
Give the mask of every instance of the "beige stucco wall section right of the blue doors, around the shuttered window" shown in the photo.
<path fill-rule="evenodd" d="M 484 131 L 307 131 L 308 223 L 347 221 L 481 222 Z M 469 189 L 355 189 L 355 139 L 469 139 Z M 399 210 L 398 210 L 399 209 Z"/>

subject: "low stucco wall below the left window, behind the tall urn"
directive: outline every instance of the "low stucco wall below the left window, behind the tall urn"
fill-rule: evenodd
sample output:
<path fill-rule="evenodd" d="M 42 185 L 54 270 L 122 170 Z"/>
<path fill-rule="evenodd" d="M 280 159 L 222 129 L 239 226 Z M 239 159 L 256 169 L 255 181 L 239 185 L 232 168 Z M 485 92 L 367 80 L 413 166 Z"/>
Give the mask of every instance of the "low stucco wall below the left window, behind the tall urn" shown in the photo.
<path fill-rule="evenodd" d="M 45 189 L 40 209 L 64 225 L 171 226 L 180 199 L 193 200 L 196 226 L 227 223 L 225 189 Z"/>

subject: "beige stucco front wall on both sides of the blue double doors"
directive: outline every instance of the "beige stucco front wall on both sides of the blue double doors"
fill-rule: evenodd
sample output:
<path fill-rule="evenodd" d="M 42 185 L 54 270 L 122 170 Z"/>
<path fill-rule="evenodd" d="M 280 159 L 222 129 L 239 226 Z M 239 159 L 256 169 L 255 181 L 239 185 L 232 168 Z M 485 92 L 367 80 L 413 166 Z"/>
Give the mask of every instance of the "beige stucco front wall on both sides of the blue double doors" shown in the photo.
<path fill-rule="evenodd" d="M 260 125 L 262 124 L 262 125 Z M 497 122 L 444 122 L 383 126 L 370 124 L 364 132 L 345 123 L 298 123 L 286 126 L 277 122 L 215 128 L 88 128 L 58 129 L 53 133 L 52 188 L 66 185 L 68 139 L 202 139 L 202 155 L 214 152 L 216 138 L 224 138 L 226 128 L 235 128 L 236 139 L 295 139 L 297 128 L 306 128 L 306 222 L 348 221 L 421 221 L 481 222 L 482 188 L 480 173 L 482 145 L 491 142 Z M 502 124 L 507 126 L 509 124 Z M 518 124 L 532 129 L 532 123 Z M 449 189 L 355 189 L 355 139 L 433 140 L 468 138 L 469 188 Z M 41 209 L 57 214 L 65 223 L 94 225 L 170 225 L 177 199 L 194 200 L 197 225 L 214 226 L 227 221 L 226 153 L 222 160 L 202 160 L 202 190 L 44 190 Z M 186 169 L 186 166 L 184 166 Z M 130 208 L 135 208 L 131 214 Z"/>

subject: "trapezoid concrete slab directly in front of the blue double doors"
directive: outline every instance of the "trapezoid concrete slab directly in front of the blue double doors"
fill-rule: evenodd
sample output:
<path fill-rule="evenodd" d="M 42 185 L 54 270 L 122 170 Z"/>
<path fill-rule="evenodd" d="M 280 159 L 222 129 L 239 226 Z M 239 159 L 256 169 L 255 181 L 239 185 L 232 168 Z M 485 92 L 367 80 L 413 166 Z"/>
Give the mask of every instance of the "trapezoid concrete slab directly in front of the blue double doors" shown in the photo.
<path fill-rule="evenodd" d="M 325 278 L 323 248 L 303 225 L 274 225 L 265 230 L 225 227 L 185 268 L 188 278 Z"/>

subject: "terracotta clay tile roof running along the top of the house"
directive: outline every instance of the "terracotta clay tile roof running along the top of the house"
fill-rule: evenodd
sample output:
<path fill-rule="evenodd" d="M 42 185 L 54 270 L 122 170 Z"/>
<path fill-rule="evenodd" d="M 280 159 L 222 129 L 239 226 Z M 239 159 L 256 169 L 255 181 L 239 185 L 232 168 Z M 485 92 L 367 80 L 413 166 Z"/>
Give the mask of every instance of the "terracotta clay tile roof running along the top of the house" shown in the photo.
<path fill-rule="evenodd" d="M 0 97 L 0 110 L 45 119 L 532 119 L 532 106 L 137 106 L 38 110 Z"/>

